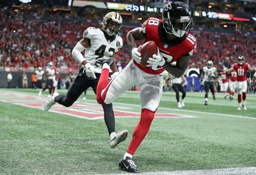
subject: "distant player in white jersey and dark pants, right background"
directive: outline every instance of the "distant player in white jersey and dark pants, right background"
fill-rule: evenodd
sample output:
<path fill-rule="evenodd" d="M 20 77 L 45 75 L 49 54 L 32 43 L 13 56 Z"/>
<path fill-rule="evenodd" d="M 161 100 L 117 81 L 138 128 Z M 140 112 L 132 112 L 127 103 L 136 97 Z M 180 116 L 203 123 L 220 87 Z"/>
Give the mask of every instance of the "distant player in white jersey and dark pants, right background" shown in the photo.
<path fill-rule="evenodd" d="M 204 105 L 208 105 L 208 92 L 212 92 L 213 100 L 216 100 L 214 94 L 214 79 L 217 78 L 217 69 L 213 67 L 213 62 L 208 61 L 207 66 L 203 67 L 203 73 L 201 75 L 204 78 L 204 88 L 205 88 L 205 95 L 204 95 Z"/>

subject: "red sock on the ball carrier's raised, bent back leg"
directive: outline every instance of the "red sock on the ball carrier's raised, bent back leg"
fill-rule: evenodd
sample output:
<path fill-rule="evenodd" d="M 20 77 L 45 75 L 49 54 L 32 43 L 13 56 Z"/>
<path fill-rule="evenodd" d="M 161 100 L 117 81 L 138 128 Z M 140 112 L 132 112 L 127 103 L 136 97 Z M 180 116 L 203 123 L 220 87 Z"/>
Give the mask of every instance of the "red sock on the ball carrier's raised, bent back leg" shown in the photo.
<path fill-rule="evenodd" d="M 108 84 L 109 84 L 109 69 L 102 69 L 101 76 L 100 76 L 100 79 L 98 80 L 98 85 L 96 89 L 96 96 L 97 96 L 96 99 L 99 104 L 105 104 L 104 100 L 105 100 L 106 93 L 101 96 L 101 92 L 103 91 L 103 89 L 106 88 L 106 86 L 108 86 Z"/>

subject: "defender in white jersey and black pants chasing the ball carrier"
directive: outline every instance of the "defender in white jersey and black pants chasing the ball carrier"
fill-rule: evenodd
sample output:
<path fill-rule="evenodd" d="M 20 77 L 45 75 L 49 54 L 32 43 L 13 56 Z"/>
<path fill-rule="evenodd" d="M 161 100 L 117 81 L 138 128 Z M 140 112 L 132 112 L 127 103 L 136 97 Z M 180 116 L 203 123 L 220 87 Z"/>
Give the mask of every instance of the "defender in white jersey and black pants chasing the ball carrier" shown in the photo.
<path fill-rule="evenodd" d="M 122 17 L 117 12 L 109 12 L 102 20 L 102 28 L 88 27 L 84 31 L 82 40 L 77 42 L 72 50 L 73 58 L 81 63 L 81 69 L 69 87 L 67 95 L 55 93 L 46 101 L 44 110 L 49 110 L 56 102 L 66 107 L 71 106 L 79 96 L 92 87 L 94 93 L 101 74 L 101 63 L 107 63 L 114 72 L 112 78 L 118 74 L 113 55 L 123 45 L 122 37 L 117 33 L 122 28 Z M 84 56 L 81 52 L 85 50 Z M 127 138 L 128 131 L 115 133 L 115 118 L 112 104 L 102 105 L 104 119 L 110 135 L 110 147 L 115 148 L 118 143 Z"/>

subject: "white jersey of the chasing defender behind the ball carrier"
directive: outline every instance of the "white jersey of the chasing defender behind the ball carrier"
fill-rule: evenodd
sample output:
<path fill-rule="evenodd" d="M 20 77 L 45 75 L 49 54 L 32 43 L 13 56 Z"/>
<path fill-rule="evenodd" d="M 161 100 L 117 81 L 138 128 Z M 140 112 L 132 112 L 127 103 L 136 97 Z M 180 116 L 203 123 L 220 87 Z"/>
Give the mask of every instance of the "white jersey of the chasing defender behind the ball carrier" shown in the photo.
<path fill-rule="evenodd" d="M 96 73 L 101 73 L 101 67 L 94 65 L 96 59 L 113 57 L 114 53 L 123 45 L 122 37 L 115 35 L 113 41 L 107 40 L 100 28 L 88 27 L 84 31 L 83 37 L 90 39 L 90 47 L 86 48 L 84 57 L 94 67 Z"/>

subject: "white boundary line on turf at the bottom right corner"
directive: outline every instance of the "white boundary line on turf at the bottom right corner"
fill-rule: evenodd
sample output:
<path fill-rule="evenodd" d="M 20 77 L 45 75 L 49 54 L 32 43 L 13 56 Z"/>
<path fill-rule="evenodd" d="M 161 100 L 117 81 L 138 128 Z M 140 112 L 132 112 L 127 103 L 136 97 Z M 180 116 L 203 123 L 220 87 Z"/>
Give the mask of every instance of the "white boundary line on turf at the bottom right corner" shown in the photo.
<path fill-rule="evenodd" d="M 130 173 L 118 173 L 118 174 L 130 174 Z M 109 174 L 109 175 L 118 175 Z M 224 169 L 202 169 L 202 170 L 178 170 L 172 172 L 147 172 L 140 173 L 143 175 L 219 175 L 219 174 L 256 174 L 256 167 L 245 167 L 245 168 L 224 168 Z M 101 174 L 105 175 L 105 174 Z"/>

